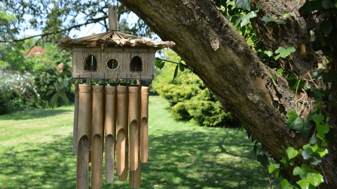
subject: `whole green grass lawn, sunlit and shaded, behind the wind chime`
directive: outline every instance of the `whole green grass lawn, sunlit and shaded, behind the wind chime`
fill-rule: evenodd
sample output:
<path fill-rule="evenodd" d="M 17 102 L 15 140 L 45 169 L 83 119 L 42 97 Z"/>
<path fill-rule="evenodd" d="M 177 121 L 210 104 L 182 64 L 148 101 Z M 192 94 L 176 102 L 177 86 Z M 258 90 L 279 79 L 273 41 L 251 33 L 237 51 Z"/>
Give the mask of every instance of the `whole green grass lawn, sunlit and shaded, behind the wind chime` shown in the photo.
<path fill-rule="evenodd" d="M 167 105 L 150 97 L 141 188 L 269 188 L 246 134 L 177 122 Z M 72 124 L 73 106 L 0 116 L 0 188 L 75 188 Z M 116 174 L 112 185 L 102 177 L 103 189 L 129 188 Z"/>

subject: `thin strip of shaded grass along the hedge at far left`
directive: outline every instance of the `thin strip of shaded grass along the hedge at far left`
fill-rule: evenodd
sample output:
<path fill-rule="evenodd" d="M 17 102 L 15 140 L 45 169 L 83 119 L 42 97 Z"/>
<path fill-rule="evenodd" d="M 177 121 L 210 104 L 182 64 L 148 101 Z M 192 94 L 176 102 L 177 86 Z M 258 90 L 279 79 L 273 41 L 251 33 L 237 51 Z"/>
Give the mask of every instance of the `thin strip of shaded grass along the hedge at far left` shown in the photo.
<path fill-rule="evenodd" d="M 26 120 L 34 118 L 44 118 L 48 116 L 60 115 L 67 112 L 73 112 L 73 108 L 25 110 L 16 113 L 1 115 L 0 120 Z"/>

